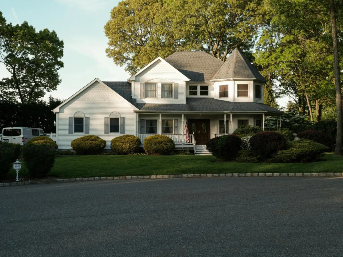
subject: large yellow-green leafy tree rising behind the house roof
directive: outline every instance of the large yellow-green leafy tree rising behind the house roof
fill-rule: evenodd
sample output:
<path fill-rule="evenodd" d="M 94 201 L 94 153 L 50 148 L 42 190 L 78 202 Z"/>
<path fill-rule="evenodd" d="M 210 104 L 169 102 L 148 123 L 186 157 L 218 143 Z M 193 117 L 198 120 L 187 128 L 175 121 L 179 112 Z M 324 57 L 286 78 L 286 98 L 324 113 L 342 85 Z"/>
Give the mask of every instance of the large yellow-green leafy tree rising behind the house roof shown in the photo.
<path fill-rule="evenodd" d="M 263 0 L 123 0 L 105 25 L 106 52 L 131 74 L 177 50 L 225 61 L 253 47 L 264 16 Z"/>

